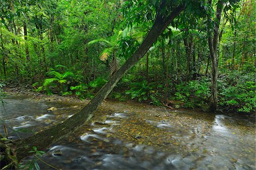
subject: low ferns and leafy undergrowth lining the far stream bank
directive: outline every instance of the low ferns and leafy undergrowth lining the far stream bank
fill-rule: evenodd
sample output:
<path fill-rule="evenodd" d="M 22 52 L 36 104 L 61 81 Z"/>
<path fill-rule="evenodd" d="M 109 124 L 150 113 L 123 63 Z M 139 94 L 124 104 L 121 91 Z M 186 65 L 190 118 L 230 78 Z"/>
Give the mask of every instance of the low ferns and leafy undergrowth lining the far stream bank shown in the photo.
<path fill-rule="evenodd" d="M 61 69 L 60 69 L 61 68 Z M 81 76 L 56 65 L 48 72 L 43 82 L 32 84 L 34 91 L 48 95 L 76 96 L 80 99 L 92 99 L 98 90 L 107 82 L 107 78 L 98 77 L 84 83 Z M 255 110 L 255 82 L 253 73 L 230 71 L 220 74 L 218 78 L 218 109 L 221 112 L 246 112 Z M 158 81 L 160 82 L 160 81 Z M 147 82 L 144 76 L 126 74 L 110 93 L 109 99 L 118 101 L 136 100 L 138 102 L 163 105 L 171 101 L 174 108 L 201 108 L 208 111 L 210 101 L 210 78 L 203 76 L 189 82 L 172 83 L 166 90 L 165 84 Z M 167 98 L 166 98 L 167 97 Z M 179 101 L 179 102 L 175 102 Z"/>

